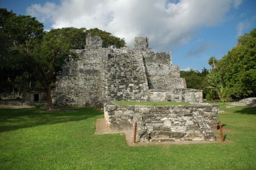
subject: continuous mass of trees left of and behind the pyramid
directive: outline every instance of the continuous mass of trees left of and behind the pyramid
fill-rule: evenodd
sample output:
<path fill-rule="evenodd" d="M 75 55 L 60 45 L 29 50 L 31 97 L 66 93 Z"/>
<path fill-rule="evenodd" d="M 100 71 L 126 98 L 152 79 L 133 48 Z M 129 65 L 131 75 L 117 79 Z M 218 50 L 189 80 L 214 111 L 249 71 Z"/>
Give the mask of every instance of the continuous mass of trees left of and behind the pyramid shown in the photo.
<path fill-rule="evenodd" d="M 34 17 L 17 16 L 2 8 L 0 19 L 1 84 L 7 79 L 13 79 L 14 83 L 17 76 L 33 75 L 45 89 L 48 109 L 52 109 L 52 82 L 63 63 L 70 57 L 76 58 L 70 49 L 84 49 L 88 33 L 100 36 L 104 47 L 125 45 L 124 39 L 97 28 L 65 27 L 46 32 Z"/>

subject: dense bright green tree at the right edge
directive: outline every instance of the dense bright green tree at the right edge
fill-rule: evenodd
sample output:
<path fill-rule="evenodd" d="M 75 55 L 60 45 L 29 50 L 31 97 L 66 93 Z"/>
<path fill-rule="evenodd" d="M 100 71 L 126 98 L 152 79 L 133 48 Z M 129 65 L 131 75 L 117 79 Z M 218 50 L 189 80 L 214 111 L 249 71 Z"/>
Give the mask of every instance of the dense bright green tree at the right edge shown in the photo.
<path fill-rule="evenodd" d="M 214 87 L 219 87 L 219 97 L 220 91 L 225 91 L 227 98 L 256 97 L 256 29 L 240 36 L 237 46 L 221 58 L 212 70 L 214 72 L 210 73 L 207 81 L 214 76 L 218 78 Z"/>

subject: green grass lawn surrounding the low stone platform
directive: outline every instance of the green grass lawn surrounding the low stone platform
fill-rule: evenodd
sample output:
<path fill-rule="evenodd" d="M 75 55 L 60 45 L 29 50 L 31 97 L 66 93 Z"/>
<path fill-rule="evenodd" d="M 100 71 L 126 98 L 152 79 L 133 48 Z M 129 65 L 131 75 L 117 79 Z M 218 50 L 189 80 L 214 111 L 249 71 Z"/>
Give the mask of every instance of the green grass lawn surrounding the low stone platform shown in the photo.
<path fill-rule="evenodd" d="M 0 108 L 0 169 L 255 169 L 256 107 L 226 105 L 219 118 L 235 143 L 136 147 L 94 135 L 98 109 Z"/>

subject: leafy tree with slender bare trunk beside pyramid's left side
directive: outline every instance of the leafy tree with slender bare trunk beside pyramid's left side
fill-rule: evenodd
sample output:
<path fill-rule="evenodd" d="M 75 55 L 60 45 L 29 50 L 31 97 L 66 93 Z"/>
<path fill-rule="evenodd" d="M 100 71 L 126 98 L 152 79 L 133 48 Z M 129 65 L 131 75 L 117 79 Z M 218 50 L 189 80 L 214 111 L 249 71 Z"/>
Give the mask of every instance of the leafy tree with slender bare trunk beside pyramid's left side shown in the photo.
<path fill-rule="evenodd" d="M 51 31 L 44 33 L 42 40 L 31 41 L 26 46 L 28 49 L 24 48 L 26 49 L 24 52 L 26 52 L 36 66 L 34 73 L 37 79 L 45 89 L 48 110 L 51 110 L 53 107 L 51 84 L 55 81 L 57 73 L 61 72 L 63 63 L 68 62 L 70 58 L 76 59 L 76 54 L 70 49 L 84 49 L 85 37 L 87 35 L 85 30 L 85 28 L 77 29 L 74 27 L 51 29 Z M 105 33 L 99 29 L 97 31 L 102 34 Z M 108 39 L 108 37 L 113 38 L 113 36 L 106 33 L 106 36 L 104 36 L 105 42 L 113 45 L 114 42 L 109 41 L 112 39 Z M 116 44 L 123 41 L 118 38 L 114 39 Z"/>

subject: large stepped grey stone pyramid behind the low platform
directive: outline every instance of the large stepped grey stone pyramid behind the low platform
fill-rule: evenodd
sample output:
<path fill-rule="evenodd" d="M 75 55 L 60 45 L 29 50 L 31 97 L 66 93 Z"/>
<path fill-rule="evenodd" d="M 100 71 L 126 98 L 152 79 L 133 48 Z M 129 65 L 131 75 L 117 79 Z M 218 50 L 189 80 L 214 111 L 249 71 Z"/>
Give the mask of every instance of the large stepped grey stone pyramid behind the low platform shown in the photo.
<path fill-rule="evenodd" d="M 135 38 L 134 48 L 102 48 L 99 36 L 86 37 L 83 50 L 57 78 L 58 105 L 102 105 L 114 100 L 202 102 L 202 91 L 187 89 L 170 52 L 154 52 L 148 38 Z"/>

